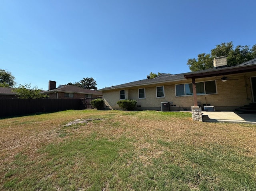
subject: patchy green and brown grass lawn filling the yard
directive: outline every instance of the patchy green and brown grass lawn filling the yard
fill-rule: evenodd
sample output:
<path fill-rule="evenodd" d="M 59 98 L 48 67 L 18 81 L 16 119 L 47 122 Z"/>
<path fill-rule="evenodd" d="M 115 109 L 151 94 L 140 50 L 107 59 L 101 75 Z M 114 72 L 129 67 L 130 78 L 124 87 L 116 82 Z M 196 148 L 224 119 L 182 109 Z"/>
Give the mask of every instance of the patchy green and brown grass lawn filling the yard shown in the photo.
<path fill-rule="evenodd" d="M 89 120 L 65 126 L 76 119 Z M 192 121 L 190 112 L 0 119 L 0 150 L 0 190 L 256 190 L 256 125 Z"/>

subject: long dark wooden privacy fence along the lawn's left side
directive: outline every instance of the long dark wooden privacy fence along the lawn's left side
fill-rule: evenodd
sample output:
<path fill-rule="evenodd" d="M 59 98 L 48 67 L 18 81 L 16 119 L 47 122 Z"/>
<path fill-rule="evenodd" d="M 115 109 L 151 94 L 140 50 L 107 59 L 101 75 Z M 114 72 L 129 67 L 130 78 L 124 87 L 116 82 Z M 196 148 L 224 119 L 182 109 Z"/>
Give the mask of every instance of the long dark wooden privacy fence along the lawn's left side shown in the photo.
<path fill-rule="evenodd" d="M 0 99 L 0 117 L 86 109 L 83 99 Z"/>

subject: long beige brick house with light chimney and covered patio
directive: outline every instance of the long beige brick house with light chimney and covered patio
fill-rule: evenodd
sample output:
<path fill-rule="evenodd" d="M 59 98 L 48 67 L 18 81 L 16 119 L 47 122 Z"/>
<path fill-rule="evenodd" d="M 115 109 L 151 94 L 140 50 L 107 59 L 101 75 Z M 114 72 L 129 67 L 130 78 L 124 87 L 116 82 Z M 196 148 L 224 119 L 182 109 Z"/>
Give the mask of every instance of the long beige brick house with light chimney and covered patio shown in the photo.
<path fill-rule="evenodd" d="M 98 91 L 103 93 L 106 109 L 119 109 L 116 102 L 123 99 L 135 99 L 136 110 L 160 110 L 162 103 L 169 102 L 170 111 L 191 111 L 191 106 L 203 105 L 233 111 L 256 102 L 256 58 L 227 67 L 226 56 L 222 56 L 213 64 L 209 70 L 161 74 Z"/>

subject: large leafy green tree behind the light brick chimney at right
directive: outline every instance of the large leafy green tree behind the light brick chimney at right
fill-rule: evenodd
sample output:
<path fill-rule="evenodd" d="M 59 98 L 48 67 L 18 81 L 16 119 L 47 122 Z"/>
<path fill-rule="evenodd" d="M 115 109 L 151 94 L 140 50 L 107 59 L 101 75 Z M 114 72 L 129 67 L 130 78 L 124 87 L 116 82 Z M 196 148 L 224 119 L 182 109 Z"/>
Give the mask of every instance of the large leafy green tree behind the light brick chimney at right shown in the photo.
<path fill-rule="evenodd" d="M 190 71 L 206 70 L 213 68 L 213 60 L 219 56 L 227 56 L 228 66 L 242 64 L 248 60 L 256 58 L 256 44 L 250 46 L 238 45 L 234 48 L 233 42 L 227 42 L 216 45 L 216 48 L 211 50 L 211 54 L 198 54 L 198 58 L 188 59 L 187 65 Z"/>

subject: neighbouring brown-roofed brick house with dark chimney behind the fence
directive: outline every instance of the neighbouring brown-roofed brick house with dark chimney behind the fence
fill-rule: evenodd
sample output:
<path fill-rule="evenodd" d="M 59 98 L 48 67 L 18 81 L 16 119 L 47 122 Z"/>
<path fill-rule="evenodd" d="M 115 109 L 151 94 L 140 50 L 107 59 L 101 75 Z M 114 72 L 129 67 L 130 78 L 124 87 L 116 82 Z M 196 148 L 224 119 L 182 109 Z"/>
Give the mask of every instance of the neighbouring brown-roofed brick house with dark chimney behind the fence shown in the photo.
<path fill-rule="evenodd" d="M 56 88 L 56 82 L 51 80 L 49 81 L 48 91 L 44 91 L 43 94 L 48 95 L 49 99 L 82 99 L 102 96 L 102 92 L 87 90 L 72 85 L 60 85 Z"/>

